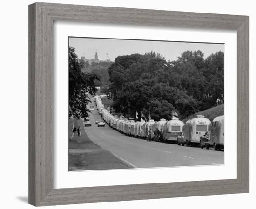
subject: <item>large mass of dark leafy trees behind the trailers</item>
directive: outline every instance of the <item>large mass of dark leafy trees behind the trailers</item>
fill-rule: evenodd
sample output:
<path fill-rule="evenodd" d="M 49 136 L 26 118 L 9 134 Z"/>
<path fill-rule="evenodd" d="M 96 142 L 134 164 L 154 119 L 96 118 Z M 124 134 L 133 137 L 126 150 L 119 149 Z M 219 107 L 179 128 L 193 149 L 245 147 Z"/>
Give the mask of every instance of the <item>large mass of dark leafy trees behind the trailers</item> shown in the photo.
<path fill-rule="evenodd" d="M 216 105 L 224 92 L 224 53 L 204 59 L 186 51 L 176 61 L 155 52 L 119 56 L 108 68 L 113 107 L 127 117 L 135 111 L 151 118 L 171 119 L 175 110 L 185 118 Z"/>

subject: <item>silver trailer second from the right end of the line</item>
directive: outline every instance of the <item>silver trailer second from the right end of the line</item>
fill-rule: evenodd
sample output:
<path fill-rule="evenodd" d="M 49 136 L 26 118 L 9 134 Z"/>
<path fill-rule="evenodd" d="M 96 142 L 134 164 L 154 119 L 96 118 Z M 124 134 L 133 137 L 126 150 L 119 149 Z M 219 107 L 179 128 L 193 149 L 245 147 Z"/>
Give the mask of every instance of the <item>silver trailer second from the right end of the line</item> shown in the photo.
<path fill-rule="evenodd" d="M 197 118 L 190 119 L 184 127 L 184 140 L 187 146 L 191 144 L 200 144 L 200 137 L 203 137 L 210 131 L 210 120 L 204 118 L 203 115 L 197 115 Z"/>

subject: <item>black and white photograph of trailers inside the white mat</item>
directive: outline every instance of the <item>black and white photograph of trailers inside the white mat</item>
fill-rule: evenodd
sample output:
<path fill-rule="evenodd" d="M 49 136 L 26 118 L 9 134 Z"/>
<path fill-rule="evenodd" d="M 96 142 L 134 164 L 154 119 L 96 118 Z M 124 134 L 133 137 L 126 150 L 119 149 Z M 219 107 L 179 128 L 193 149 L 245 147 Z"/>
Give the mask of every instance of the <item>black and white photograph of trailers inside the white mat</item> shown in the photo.
<path fill-rule="evenodd" d="M 224 44 L 68 43 L 69 171 L 224 164 Z"/>

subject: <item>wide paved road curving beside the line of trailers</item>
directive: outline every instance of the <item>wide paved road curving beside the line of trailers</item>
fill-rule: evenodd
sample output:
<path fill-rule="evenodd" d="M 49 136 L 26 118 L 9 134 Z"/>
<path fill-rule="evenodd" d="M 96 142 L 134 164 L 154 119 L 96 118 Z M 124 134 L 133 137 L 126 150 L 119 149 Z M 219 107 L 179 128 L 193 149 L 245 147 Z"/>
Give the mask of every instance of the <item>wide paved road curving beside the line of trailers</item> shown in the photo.
<path fill-rule="evenodd" d="M 224 152 L 178 146 L 125 136 L 107 124 L 97 127 L 101 119 L 97 110 L 90 114 L 92 127 L 86 127 L 88 137 L 105 150 L 111 151 L 135 168 L 214 165 L 224 163 Z"/>

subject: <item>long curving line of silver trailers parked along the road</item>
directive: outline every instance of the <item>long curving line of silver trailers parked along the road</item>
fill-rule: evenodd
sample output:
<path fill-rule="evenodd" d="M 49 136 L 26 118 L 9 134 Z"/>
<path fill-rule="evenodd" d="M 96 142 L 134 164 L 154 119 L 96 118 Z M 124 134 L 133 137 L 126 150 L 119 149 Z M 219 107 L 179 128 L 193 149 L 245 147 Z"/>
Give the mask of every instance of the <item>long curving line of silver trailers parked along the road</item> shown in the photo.
<path fill-rule="evenodd" d="M 151 129 L 151 139 L 159 141 L 160 133 L 162 133 L 162 142 L 177 143 L 178 145 L 200 146 L 201 148 L 214 147 L 214 150 L 224 149 L 224 116 L 214 118 L 211 122 L 204 118 L 203 115 L 198 115 L 196 118 L 188 120 L 185 124 L 176 117 L 166 121 L 137 121 L 118 118 L 110 114 L 109 110 L 105 109 L 101 98 L 94 97 L 94 102 L 97 105 L 99 114 L 103 120 L 113 129 L 130 137 L 148 139 L 149 130 Z M 154 134 L 155 132 L 155 134 Z"/>

